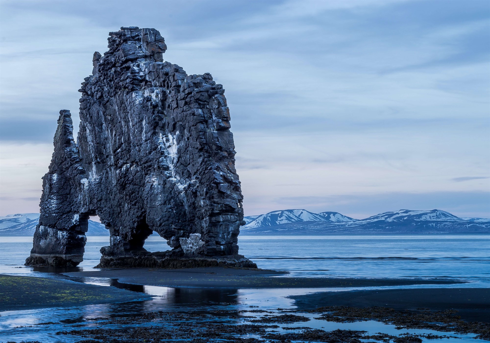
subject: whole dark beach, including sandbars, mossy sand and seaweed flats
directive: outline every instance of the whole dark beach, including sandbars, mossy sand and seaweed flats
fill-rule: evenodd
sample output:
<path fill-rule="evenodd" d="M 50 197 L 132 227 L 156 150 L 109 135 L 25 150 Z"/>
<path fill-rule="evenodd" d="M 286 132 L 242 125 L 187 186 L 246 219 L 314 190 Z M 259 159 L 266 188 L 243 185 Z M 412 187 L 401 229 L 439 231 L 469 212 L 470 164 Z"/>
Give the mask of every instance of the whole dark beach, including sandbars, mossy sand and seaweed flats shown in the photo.
<path fill-rule="evenodd" d="M 109 278 L 133 285 L 181 288 L 345 288 L 417 284 L 451 284 L 448 279 L 361 279 L 301 278 L 283 276 L 273 270 L 197 268 L 186 270 L 91 270 L 65 272 L 68 277 Z M 80 280 L 80 279 L 78 279 Z M 458 281 L 456 281 L 458 282 Z M 462 282 L 458 282 L 462 283 Z M 52 326 L 56 337 L 72 342 L 173 342 L 260 343 L 288 340 L 316 342 L 359 342 L 360 339 L 382 343 L 421 343 L 421 338 L 447 338 L 446 333 L 476 334 L 489 340 L 489 289 L 431 288 L 373 291 L 318 292 L 290 296 L 296 309 L 237 310 L 228 307 L 227 299 L 215 303 L 218 309 L 206 311 L 138 311 L 117 316 L 46 322 L 35 327 Z M 151 296 L 116 287 L 104 287 L 62 279 L 0 275 L 1 310 L 81 306 L 149 300 Z M 225 302 L 223 302 L 225 301 Z M 138 304 L 137 302 L 134 304 Z M 123 304 L 124 305 L 124 304 Z M 250 309 L 249 309 L 250 308 Z M 447 310 L 457 310 L 447 311 Z M 461 320 L 460 317 L 461 316 Z M 311 326 L 315 319 L 335 322 L 377 320 L 395 324 L 400 329 L 428 329 L 433 334 L 376 333 L 366 331 L 326 331 Z M 475 322 L 470 322 L 475 321 Z M 478 322 L 476 322 L 478 321 Z M 483 323 L 483 322 L 487 323 Z M 150 324 L 148 326 L 147 324 Z M 143 325 L 140 327 L 140 325 Z M 286 327 L 286 326 L 289 327 Z M 442 326 L 441 326 L 442 325 Z M 37 330 L 37 329 L 36 329 Z M 244 338 L 246 337 L 246 338 Z M 84 341 L 79 341 L 84 340 Z M 223 341 L 224 340 L 224 341 Z M 58 341 L 56 341 L 58 342 Z M 120 341 L 118 341 L 120 342 Z"/>

